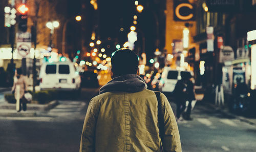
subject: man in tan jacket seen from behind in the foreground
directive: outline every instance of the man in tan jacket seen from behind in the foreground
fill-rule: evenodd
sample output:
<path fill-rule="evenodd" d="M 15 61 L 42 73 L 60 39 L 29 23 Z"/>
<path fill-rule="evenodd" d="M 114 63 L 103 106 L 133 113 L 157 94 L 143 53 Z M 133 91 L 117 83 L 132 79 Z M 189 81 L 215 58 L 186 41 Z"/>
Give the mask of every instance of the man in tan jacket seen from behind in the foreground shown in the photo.
<path fill-rule="evenodd" d="M 112 80 L 89 103 L 80 152 L 182 151 L 172 107 L 160 93 L 158 111 L 156 94 L 137 75 L 138 59 L 129 49 L 113 53 Z M 163 130 L 159 127 L 158 112 L 162 112 Z"/>

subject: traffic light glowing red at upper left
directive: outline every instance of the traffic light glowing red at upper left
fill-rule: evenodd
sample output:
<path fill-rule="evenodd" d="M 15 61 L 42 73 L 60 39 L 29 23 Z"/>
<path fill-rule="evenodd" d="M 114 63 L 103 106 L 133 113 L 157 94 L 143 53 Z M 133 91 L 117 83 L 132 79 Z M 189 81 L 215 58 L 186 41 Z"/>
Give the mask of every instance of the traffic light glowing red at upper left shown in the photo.
<path fill-rule="evenodd" d="M 27 31 L 27 23 L 28 23 L 28 7 L 25 4 L 20 5 L 17 8 L 19 15 L 19 24 L 18 28 L 19 30 L 26 32 Z"/>

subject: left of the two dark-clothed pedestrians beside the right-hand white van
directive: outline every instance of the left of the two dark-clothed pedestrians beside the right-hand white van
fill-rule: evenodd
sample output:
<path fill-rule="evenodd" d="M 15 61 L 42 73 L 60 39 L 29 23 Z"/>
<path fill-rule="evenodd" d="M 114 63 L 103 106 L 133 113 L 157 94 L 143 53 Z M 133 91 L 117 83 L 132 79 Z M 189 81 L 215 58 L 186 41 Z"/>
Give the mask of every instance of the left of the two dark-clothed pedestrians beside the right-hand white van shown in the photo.
<path fill-rule="evenodd" d="M 186 108 L 186 100 L 188 97 L 187 94 L 187 82 L 189 81 L 189 75 L 184 74 L 183 77 L 181 78 L 181 80 L 178 80 L 174 91 L 173 91 L 173 95 L 175 98 L 175 102 L 176 102 L 176 118 L 177 121 L 182 121 L 182 117 L 181 114 L 184 112 L 185 108 Z"/>

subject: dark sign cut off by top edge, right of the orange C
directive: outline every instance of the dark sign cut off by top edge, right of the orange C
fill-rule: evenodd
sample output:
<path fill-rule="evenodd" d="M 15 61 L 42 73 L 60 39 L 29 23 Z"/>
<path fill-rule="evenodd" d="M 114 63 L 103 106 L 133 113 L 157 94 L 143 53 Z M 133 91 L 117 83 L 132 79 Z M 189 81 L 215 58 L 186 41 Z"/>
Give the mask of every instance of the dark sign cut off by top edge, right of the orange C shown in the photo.
<path fill-rule="evenodd" d="M 239 8 L 238 0 L 206 0 L 209 12 L 233 12 Z"/>

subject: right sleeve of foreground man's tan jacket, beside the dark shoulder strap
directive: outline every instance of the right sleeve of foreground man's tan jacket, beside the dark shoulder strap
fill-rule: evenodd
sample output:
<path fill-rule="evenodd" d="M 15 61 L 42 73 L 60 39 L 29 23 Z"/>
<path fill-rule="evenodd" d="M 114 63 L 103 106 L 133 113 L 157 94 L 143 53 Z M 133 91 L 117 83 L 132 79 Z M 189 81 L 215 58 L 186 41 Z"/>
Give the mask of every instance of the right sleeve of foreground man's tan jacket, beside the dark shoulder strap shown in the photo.
<path fill-rule="evenodd" d="M 178 125 L 167 98 L 161 93 L 162 112 L 164 116 L 163 151 L 181 152 L 181 142 Z"/>

